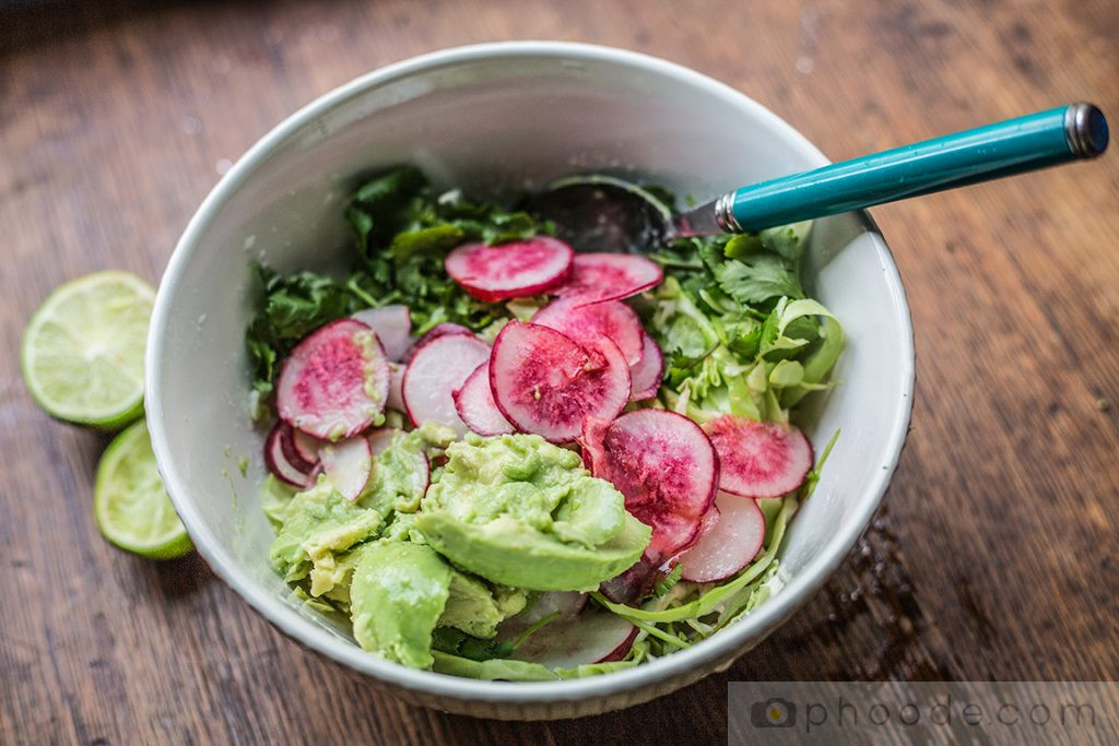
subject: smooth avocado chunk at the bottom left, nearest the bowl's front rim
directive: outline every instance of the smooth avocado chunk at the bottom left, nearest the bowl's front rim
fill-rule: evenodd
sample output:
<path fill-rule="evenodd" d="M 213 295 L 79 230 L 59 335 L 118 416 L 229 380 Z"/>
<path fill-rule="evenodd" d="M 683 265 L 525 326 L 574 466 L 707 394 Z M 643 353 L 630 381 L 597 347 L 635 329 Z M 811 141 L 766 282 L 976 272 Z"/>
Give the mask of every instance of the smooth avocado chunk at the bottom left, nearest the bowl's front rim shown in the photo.
<path fill-rule="evenodd" d="M 363 547 L 350 585 L 354 639 L 364 650 L 412 668 L 431 668 L 431 634 L 450 596 L 452 570 L 422 544 Z"/>

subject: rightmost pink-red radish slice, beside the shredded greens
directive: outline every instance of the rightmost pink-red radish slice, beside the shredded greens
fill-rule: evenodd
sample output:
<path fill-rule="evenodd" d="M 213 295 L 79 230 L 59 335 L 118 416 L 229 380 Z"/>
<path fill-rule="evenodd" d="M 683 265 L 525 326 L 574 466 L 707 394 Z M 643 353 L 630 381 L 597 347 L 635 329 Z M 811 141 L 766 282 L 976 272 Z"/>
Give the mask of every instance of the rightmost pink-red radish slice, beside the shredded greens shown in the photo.
<path fill-rule="evenodd" d="M 812 468 L 812 445 L 792 425 L 723 415 L 703 428 L 718 452 L 721 490 L 775 498 L 800 487 Z"/>

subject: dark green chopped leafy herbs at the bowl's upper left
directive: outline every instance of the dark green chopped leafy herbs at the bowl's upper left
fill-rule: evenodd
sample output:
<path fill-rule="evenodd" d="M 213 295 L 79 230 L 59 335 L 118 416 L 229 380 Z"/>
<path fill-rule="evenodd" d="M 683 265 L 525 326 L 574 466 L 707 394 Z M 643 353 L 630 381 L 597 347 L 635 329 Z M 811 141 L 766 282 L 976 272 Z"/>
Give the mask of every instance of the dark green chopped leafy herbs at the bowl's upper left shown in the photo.
<path fill-rule="evenodd" d="M 366 308 L 405 303 L 416 333 L 442 322 L 480 331 L 508 311 L 467 294 L 443 270 L 443 258 L 470 240 L 499 244 L 552 233 L 527 213 L 436 195 L 416 168 L 392 169 L 361 183 L 346 208 L 356 259 L 340 277 L 313 272 L 281 275 L 255 265 L 261 284 L 246 344 L 253 387 L 272 393 L 280 360 L 319 327 Z"/>

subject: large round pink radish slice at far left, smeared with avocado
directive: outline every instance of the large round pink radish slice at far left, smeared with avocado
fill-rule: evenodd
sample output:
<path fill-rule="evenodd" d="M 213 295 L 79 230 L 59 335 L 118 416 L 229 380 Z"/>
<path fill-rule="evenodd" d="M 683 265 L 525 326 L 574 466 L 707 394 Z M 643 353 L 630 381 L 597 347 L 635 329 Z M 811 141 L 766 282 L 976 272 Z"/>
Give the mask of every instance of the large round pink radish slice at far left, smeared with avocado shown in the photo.
<path fill-rule="evenodd" d="M 281 419 L 314 437 L 348 437 L 384 410 L 388 378 L 388 361 L 373 330 L 339 319 L 312 332 L 284 360 L 276 409 Z"/>

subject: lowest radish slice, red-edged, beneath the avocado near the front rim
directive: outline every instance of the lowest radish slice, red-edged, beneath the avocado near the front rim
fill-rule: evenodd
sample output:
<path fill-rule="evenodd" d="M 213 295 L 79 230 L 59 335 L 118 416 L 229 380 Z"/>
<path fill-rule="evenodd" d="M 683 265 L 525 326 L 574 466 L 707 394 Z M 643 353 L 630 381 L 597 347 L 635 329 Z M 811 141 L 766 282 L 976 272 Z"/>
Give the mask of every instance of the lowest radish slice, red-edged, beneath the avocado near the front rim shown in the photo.
<path fill-rule="evenodd" d="M 498 638 L 506 638 L 505 632 L 502 625 Z M 637 627 L 617 614 L 587 608 L 570 622 L 544 625 L 520 643 L 513 657 L 551 669 L 603 663 L 626 658 L 636 636 Z"/>

